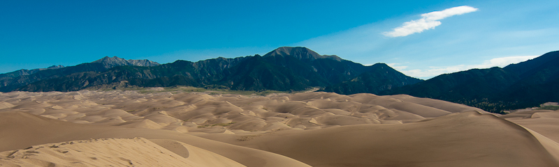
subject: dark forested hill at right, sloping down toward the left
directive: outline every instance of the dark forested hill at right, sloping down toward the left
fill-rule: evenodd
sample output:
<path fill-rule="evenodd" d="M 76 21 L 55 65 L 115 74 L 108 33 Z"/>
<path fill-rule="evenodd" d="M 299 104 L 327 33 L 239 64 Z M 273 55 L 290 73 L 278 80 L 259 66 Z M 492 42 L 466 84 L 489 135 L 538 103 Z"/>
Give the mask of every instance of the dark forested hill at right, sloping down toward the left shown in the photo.
<path fill-rule="evenodd" d="M 537 106 L 544 102 L 559 102 L 559 51 L 551 51 L 503 68 L 442 74 L 379 94 L 428 97 L 495 113 Z"/>

